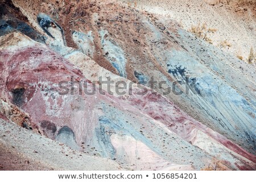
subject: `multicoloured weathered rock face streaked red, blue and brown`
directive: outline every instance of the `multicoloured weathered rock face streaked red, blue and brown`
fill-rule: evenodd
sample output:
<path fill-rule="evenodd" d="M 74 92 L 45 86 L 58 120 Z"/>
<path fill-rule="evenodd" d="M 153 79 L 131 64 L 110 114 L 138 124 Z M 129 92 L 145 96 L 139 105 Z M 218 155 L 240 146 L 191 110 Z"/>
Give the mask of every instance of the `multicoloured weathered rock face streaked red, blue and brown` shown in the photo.
<path fill-rule="evenodd" d="M 67 15 L 57 23 L 40 9 L 40 2 L 30 3 L 35 3 L 35 12 L 44 12 L 30 16 L 36 30 L 28 26 L 30 31 L 22 34 L 6 20 L 14 16 L 7 10 L 1 20 L 0 96 L 29 114 L 32 129 L 132 169 L 200 169 L 211 163 L 212 156 L 229 169 L 256 168 L 255 156 L 246 151 L 255 150 L 255 82 L 249 79 L 255 76 L 253 68 L 242 75 L 238 65 L 246 65 L 234 57 L 175 23 L 167 26 L 164 20 L 128 7 L 75 4 L 62 15 L 57 13 Z M 23 14 L 31 11 L 19 1 L 15 5 Z M 110 14 L 110 7 L 123 12 Z M 81 19 L 85 15 L 88 20 Z M 64 24 L 69 18 L 70 34 Z M 119 96 L 107 93 L 103 85 L 102 94 L 102 83 L 92 83 L 100 76 L 145 86 L 135 85 L 130 95 Z M 167 81 L 155 89 L 158 93 L 146 87 L 151 76 Z M 187 79 L 186 86 L 195 92 L 162 96 L 172 81 Z M 78 82 L 96 92 L 86 94 Z M 63 94 L 67 90 L 61 83 L 69 92 Z M 9 107 L 2 108 L 0 117 L 14 121 L 6 112 Z"/>

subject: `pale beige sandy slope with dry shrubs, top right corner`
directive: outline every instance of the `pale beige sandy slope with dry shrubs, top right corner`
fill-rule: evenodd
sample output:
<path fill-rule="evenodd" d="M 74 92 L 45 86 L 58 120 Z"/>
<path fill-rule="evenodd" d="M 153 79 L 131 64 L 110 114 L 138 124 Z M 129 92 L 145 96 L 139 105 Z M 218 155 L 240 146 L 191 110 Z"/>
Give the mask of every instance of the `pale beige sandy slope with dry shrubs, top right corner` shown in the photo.
<path fill-rule="evenodd" d="M 256 49 L 256 1 L 253 0 L 121 0 L 138 10 L 175 19 L 185 29 L 206 23 L 217 32 L 209 35 L 213 45 L 243 60 Z M 231 47 L 221 47 L 227 41 Z"/>

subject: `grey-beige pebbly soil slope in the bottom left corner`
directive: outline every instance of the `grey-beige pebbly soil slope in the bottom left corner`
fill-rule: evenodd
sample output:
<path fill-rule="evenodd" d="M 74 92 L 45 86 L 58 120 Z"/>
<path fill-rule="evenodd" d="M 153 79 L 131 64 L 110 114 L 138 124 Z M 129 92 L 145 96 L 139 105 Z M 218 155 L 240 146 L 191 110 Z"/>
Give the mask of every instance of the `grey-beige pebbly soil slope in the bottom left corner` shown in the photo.
<path fill-rule="evenodd" d="M 7 160 L 6 160 L 7 159 Z M 0 170 L 118 170 L 113 160 L 88 156 L 0 119 Z"/>

